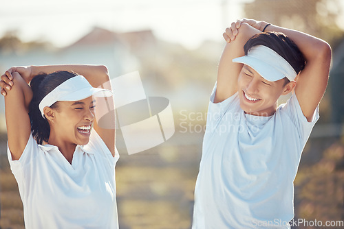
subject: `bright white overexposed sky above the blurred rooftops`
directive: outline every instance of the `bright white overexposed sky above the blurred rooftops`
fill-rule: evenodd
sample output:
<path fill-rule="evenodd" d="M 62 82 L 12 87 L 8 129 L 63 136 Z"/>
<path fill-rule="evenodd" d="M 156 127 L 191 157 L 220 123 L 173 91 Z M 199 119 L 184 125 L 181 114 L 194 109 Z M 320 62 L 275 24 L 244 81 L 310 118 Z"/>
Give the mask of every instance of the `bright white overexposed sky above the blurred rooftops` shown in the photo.
<path fill-rule="evenodd" d="M 196 48 L 222 40 L 224 29 L 242 17 L 252 0 L 11 0 L 0 8 L 0 36 L 17 31 L 24 41 L 45 40 L 67 46 L 92 27 L 115 32 L 152 29 L 162 40 Z"/>

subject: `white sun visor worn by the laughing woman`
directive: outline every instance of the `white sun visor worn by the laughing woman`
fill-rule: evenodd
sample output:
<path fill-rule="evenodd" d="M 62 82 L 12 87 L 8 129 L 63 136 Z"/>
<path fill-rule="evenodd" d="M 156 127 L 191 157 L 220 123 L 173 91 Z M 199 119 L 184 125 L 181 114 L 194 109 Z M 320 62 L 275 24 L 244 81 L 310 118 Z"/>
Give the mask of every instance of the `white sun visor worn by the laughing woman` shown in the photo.
<path fill-rule="evenodd" d="M 112 92 L 103 88 L 94 88 L 83 75 L 76 75 L 56 86 L 54 90 L 45 95 L 39 103 L 39 110 L 44 118 L 43 108 L 52 106 L 56 101 L 78 101 L 92 95 L 94 97 L 109 97 Z"/>

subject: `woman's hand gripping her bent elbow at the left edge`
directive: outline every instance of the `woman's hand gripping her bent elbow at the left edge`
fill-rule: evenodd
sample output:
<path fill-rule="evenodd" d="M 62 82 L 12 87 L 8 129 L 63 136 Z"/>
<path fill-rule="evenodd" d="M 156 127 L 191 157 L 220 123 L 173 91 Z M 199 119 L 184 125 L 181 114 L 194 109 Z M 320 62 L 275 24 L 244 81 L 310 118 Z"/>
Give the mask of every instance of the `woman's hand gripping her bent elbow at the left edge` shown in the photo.
<path fill-rule="evenodd" d="M 32 69 L 30 66 L 26 66 L 26 67 L 12 67 L 10 69 L 8 69 L 8 71 L 6 71 L 5 73 L 3 73 L 3 75 L 1 75 L 1 80 L 0 80 L 0 93 L 3 96 L 7 95 L 6 91 L 10 91 L 11 87 L 13 86 L 13 75 L 12 73 L 17 72 L 19 73 L 19 75 L 21 75 L 21 77 L 23 77 L 23 80 L 25 80 L 25 82 L 27 84 L 29 84 L 29 82 L 32 80 Z"/>

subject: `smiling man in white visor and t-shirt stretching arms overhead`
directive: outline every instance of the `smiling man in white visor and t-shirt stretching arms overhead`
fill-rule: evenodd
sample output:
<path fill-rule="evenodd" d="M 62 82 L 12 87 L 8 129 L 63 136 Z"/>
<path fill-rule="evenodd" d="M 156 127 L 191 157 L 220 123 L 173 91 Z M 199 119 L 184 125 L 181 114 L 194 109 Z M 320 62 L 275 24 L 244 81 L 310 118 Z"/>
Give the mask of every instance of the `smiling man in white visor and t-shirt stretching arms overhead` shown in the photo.
<path fill-rule="evenodd" d="M 195 186 L 193 229 L 290 228 L 293 181 L 319 119 L 330 46 L 248 19 L 232 23 L 224 38 Z M 288 93 L 287 103 L 277 106 Z"/>

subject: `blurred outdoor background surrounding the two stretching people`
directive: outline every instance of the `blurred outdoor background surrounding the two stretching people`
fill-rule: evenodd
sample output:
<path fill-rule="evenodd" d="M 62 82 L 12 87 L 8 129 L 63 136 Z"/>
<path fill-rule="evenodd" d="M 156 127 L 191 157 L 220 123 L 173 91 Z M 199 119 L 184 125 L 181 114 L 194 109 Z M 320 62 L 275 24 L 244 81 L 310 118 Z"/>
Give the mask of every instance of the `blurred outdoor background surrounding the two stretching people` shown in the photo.
<path fill-rule="evenodd" d="M 118 148 L 120 228 L 191 228 L 224 29 L 246 17 L 323 38 L 332 46 L 330 82 L 294 181 L 294 219 L 343 221 L 343 5 L 341 0 L 2 1 L 0 73 L 18 65 L 65 63 L 105 64 L 111 77 L 139 71 L 147 96 L 170 100 L 175 134 L 131 156 Z M 0 228 L 23 228 L 23 206 L 6 156 L 3 104 L 1 97 Z"/>

